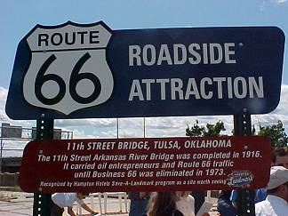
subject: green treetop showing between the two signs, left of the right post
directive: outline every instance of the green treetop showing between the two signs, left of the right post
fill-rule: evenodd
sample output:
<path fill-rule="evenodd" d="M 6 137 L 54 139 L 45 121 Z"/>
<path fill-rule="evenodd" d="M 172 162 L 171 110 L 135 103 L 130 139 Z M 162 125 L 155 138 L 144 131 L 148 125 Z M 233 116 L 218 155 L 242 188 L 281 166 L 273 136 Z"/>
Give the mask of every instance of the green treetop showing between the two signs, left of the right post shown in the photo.
<path fill-rule="evenodd" d="M 186 135 L 189 137 L 203 137 L 203 136 L 219 136 L 221 131 L 225 131 L 224 123 L 218 121 L 216 124 L 206 124 L 205 126 L 199 126 L 198 120 L 196 124 L 186 128 Z"/>

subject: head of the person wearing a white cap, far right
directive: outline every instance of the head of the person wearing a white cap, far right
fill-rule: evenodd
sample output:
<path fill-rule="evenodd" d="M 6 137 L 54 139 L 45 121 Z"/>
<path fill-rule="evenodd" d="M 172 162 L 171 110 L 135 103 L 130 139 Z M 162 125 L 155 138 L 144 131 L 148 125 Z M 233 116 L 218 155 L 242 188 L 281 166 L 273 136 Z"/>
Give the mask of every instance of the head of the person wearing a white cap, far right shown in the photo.
<path fill-rule="evenodd" d="M 267 193 L 282 197 L 288 202 L 288 169 L 284 166 L 271 167 Z"/>

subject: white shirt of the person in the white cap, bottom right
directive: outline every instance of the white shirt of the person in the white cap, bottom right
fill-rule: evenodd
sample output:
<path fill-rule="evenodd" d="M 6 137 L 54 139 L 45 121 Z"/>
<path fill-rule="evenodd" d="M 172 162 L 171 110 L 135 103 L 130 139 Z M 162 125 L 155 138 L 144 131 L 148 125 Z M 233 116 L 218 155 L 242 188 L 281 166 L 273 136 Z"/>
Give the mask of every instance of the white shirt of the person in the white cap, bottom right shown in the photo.
<path fill-rule="evenodd" d="M 287 216 L 288 204 L 279 197 L 268 195 L 266 200 L 255 204 L 256 216 Z"/>

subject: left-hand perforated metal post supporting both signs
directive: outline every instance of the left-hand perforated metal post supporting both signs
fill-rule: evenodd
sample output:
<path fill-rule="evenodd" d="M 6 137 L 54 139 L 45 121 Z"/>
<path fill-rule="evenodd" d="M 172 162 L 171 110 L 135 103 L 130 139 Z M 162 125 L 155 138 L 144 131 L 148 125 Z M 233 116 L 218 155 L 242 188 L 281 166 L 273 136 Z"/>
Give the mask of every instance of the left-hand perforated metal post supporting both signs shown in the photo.
<path fill-rule="evenodd" d="M 38 119 L 36 121 L 36 139 L 53 139 L 54 120 Z M 39 152 L 41 154 L 41 152 Z M 50 216 L 51 194 L 34 194 L 33 216 Z"/>

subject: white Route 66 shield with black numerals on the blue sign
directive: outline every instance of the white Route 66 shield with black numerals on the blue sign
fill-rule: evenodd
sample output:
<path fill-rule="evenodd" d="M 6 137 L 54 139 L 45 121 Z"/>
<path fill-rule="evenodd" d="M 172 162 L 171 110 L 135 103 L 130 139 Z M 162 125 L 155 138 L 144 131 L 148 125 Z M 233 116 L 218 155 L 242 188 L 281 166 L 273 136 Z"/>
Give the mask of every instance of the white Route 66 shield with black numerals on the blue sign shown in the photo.
<path fill-rule="evenodd" d="M 27 37 L 31 61 L 23 80 L 24 99 L 65 115 L 107 101 L 114 87 L 106 60 L 111 35 L 101 23 L 37 26 Z"/>

